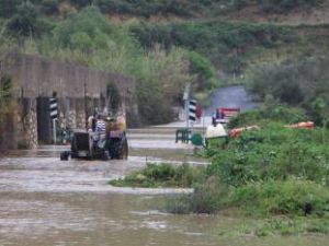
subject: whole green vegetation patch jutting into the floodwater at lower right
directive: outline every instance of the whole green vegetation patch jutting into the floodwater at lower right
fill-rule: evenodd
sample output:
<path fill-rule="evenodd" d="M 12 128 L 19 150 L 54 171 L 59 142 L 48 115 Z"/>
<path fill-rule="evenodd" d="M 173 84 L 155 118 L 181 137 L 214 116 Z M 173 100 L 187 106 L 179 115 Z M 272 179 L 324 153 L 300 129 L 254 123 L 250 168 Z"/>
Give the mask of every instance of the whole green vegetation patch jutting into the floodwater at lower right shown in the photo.
<path fill-rule="evenodd" d="M 170 187 L 193 187 L 194 192 L 189 196 L 166 198 L 166 210 L 173 213 L 232 211 L 235 216 L 259 220 L 246 234 L 251 231 L 259 236 L 327 234 L 324 218 L 329 216 L 329 130 L 321 126 L 286 127 L 308 119 L 302 109 L 266 105 L 231 121 L 231 127 L 258 122 L 260 130 L 230 139 L 224 149 L 222 143 L 220 148 L 212 144 L 205 151 L 212 164 L 197 173 L 192 167 L 180 167 L 180 175 L 175 175 L 174 168 L 167 165 L 148 166 L 112 184 L 138 187 L 141 180 L 143 187 L 144 184 L 163 187 L 167 184 L 162 180 L 174 180 Z M 146 175 L 150 171 L 161 171 L 161 175 Z M 185 175 L 181 175 L 182 171 Z M 191 172 L 195 175 L 190 176 Z M 183 181 L 186 176 L 189 183 Z"/>

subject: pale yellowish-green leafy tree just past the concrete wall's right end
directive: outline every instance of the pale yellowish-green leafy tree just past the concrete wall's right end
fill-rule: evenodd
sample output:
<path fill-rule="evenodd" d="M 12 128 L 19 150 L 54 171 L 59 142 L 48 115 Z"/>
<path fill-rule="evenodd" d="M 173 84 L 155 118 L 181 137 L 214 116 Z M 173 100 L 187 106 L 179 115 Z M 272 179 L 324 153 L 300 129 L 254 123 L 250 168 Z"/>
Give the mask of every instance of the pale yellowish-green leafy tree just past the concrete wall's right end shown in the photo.
<path fill-rule="evenodd" d="M 168 122 L 173 116 L 171 105 L 193 80 L 184 52 L 179 48 L 166 52 L 157 45 L 140 62 L 136 74 L 139 112 L 146 124 Z"/>

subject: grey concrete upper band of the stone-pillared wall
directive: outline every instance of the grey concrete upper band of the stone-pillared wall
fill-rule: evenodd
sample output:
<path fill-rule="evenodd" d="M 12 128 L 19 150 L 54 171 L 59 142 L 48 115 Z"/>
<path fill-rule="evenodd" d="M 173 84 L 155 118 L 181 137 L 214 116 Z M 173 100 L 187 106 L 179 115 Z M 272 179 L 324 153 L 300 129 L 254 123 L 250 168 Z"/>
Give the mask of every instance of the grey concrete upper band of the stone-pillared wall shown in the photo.
<path fill-rule="evenodd" d="M 118 86 L 123 97 L 134 90 L 131 78 L 32 55 L 8 54 L 1 70 L 12 75 L 15 91 L 27 98 L 52 96 L 54 91 L 58 97 L 99 98 L 109 82 Z"/>

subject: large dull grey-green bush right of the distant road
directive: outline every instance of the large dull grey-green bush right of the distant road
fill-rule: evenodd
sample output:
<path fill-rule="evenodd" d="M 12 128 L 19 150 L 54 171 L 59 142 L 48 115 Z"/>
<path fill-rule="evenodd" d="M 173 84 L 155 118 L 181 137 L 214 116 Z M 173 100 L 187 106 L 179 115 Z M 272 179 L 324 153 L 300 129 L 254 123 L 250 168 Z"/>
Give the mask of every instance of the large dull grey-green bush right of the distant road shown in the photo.
<path fill-rule="evenodd" d="M 285 60 L 257 68 L 250 75 L 250 89 L 262 99 L 274 99 L 303 107 L 317 125 L 329 115 L 329 59 L 324 56 Z M 311 81 L 311 83 L 310 83 Z"/>

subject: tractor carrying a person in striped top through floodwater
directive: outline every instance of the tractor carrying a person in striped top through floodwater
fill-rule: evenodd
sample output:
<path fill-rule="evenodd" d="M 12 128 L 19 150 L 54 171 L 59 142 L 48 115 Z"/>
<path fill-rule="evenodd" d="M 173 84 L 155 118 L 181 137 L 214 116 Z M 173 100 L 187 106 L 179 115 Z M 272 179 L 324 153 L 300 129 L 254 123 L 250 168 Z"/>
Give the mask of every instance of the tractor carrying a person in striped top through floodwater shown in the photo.
<path fill-rule="evenodd" d="M 104 118 L 104 117 L 103 117 Z M 87 130 L 76 130 L 71 139 L 71 150 L 60 153 L 60 160 L 71 159 L 124 160 L 128 156 L 128 142 L 125 131 L 125 119 L 99 117 L 103 122 L 103 130 L 97 129 L 97 120 L 92 119 L 92 125 Z"/>

